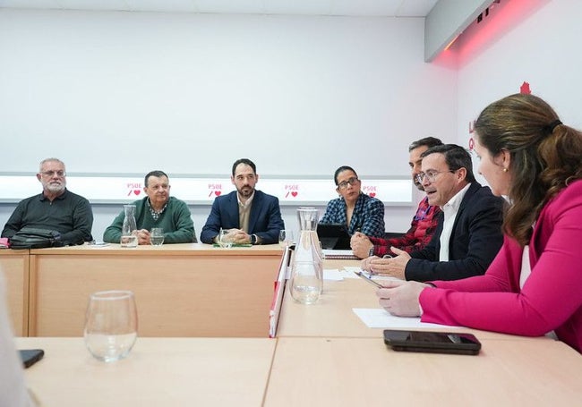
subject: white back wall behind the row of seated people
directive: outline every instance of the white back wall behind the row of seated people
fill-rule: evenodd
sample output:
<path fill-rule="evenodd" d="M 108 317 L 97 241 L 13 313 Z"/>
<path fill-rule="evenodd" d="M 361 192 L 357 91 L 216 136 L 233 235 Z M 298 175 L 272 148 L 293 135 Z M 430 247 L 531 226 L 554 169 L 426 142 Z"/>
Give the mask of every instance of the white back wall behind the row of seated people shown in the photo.
<path fill-rule="evenodd" d="M 457 73 L 423 48 L 419 18 L 3 9 L 0 172 L 407 175 L 409 142 L 457 123 Z M 94 206 L 96 238 L 119 208 Z M 191 208 L 200 233 L 210 207 Z M 387 230 L 414 210 L 386 208 Z"/>

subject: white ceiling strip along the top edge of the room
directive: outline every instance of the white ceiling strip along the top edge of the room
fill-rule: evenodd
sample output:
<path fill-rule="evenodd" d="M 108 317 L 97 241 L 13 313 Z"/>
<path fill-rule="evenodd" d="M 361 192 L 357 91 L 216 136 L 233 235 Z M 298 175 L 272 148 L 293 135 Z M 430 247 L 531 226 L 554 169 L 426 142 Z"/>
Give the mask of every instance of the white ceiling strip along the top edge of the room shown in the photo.
<path fill-rule="evenodd" d="M 425 17 L 438 0 L 0 0 L 0 8 Z"/>

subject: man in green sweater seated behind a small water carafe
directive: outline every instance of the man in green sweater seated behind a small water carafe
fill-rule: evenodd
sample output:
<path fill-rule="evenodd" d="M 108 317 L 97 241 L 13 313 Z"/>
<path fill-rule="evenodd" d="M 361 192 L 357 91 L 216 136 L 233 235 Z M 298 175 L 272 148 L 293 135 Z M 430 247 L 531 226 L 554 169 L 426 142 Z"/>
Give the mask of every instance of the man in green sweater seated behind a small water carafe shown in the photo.
<path fill-rule="evenodd" d="M 183 200 L 170 197 L 170 184 L 163 171 L 146 174 L 143 191 L 146 197 L 136 200 L 135 223 L 139 244 L 150 244 L 150 230 L 161 227 L 164 230 L 164 243 L 197 242 L 190 209 Z M 103 233 L 103 241 L 119 243 L 125 213 L 114 219 Z"/>

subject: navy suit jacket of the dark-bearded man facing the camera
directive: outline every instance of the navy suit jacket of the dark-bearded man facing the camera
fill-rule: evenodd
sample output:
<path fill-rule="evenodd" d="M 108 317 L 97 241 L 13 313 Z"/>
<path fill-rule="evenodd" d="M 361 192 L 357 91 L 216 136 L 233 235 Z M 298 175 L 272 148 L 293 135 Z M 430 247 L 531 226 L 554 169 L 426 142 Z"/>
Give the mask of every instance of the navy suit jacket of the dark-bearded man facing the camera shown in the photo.
<path fill-rule="evenodd" d="M 202 227 L 201 242 L 212 243 L 221 227 L 223 229 L 241 228 L 236 191 L 214 199 L 206 225 Z M 270 244 L 278 243 L 278 233 L 281 229 L 285 229 L 285 224 L 278 206 L 278 198 L 255 190 L 247 233 L 261 237 L 262 244 Z"/>

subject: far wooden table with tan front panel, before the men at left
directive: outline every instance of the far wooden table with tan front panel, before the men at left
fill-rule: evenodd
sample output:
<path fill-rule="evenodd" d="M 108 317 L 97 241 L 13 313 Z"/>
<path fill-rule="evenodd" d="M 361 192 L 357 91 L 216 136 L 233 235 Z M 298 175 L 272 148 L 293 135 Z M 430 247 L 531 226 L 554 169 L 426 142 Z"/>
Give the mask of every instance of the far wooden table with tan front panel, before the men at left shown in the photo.
<path fill-rule="evenodd" d="M 81 336 L 90 293 L 132 290 L 141 336 L 267 337 L 278 245 L 3 250 L 17 335 Z"/>

